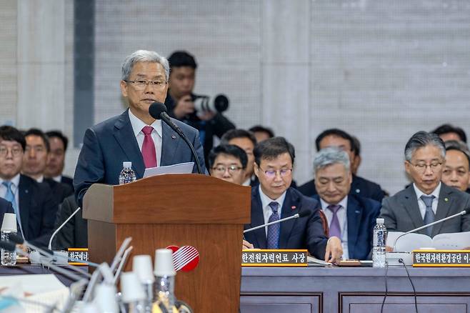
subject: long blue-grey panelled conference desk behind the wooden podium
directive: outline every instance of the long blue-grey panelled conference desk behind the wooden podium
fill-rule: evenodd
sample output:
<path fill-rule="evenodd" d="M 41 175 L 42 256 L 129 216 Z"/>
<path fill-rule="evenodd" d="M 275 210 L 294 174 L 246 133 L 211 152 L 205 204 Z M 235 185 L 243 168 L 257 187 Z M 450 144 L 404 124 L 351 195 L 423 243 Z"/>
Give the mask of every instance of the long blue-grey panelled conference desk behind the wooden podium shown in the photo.
<path fill-rule="evenodd" d="M 0 276 L 46 273 L 51 272 L 31 265 L 0 267 Z M 470 312 L 470 268 L 409 267 L 409 274 L 418 295 L 420 313 Z M 56 275 L 64 284 L 71 283 Z M 415 312 L 413 289 L 405 269 L 389 267 L 387 283 L 384 312 Z M 376 313 L 381 312 L 384 292 L 385 269 L 244 267 L 240 311 Z"/>

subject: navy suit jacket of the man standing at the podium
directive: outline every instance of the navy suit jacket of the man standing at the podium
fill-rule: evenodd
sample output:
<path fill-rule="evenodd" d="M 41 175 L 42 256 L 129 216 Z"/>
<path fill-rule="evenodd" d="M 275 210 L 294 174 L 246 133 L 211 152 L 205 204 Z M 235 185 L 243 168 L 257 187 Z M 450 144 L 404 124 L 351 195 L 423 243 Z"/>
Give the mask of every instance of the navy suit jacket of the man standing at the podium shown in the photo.
<path fill-rule="evenodd" d="M 92 184 L 119 184 L 122 162 L 132 162 L 132 169 L 136 172 L 137 179 L 144 177 L 144 159 L 132 130 L 128 110 L 86 129 L 74 176 L 75 196 L 79 206 L 86 190 Z M 181 121 L 176 119 L 172 121 L 194 145 L 201 169 L 206 172 L 199 132 Z M 164 122 L 162 122 L 162 136 L 159 165 L 195 162 L 189 146 Z M 193 172 L 197 172 L 196 164 Z"/>

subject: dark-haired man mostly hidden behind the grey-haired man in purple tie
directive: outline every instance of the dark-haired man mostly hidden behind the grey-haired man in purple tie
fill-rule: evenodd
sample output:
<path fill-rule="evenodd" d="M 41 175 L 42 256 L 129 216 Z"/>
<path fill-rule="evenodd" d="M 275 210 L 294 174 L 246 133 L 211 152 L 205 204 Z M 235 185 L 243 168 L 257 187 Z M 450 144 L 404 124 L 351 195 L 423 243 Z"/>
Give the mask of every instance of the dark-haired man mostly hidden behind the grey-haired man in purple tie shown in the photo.
<path fill-rule="evenodd" d="M 354 146 L 354 139 L 351 135 L 346 133 L 346 131 L 342 131 L 341 129 L 326 129 L 326 131 L 323 131 L 316 137 L 315 144 L 316 151 L 320 151 L 327 146 L 337 146 L 347 152 L 351 163 L 354 162 L 354 151 L 356 149 Z M 299 187 L 299 192 L 307 197 L 311 197 L 316 194 L 317 192 L 314 180 L 312 179 Z M 379 184 L 354 174 L 352 176 L 350 194 L 357 194 L 361 197 L 374 199 L 378 202 L 381 202 L 384 198 L 384 192 Z"/>

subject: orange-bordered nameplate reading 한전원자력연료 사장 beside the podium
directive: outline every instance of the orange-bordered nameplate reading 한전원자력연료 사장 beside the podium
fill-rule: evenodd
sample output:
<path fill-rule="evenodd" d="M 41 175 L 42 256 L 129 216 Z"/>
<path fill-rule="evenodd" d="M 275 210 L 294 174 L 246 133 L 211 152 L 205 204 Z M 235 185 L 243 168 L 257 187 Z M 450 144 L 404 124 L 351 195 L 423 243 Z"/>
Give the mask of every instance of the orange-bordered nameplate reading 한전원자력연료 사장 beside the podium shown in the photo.
<path fill-rule="evenodd" d="M 242 267 L 306 267 L 304 249 L 246 249 L 241 251 Z"/>

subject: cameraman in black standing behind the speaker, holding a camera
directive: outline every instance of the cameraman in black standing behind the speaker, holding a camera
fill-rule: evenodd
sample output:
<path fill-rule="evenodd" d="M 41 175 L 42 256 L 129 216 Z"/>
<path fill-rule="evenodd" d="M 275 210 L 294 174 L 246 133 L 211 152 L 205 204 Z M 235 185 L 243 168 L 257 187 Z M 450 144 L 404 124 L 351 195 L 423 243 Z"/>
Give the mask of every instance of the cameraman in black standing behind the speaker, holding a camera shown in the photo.
<path fill-rule="evenodd" d="M 213 136 L 219 138 L 235 125 L 219 112 L 196 111 L 193 94 L 196 76 L 196 60 L 186 51 L 175 51 L 169 56 L 170 77 L 169 90 L 166 94 L 165 105 L 169 116 L 184 121 L 199 130 L 199 138 L 204 146 L 204 159 L 214 145 Z M 211 99 L 213 101 L 213 99 Z"/>

